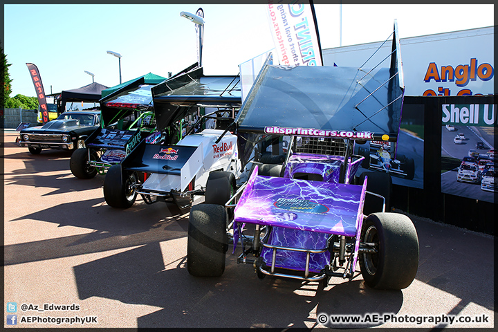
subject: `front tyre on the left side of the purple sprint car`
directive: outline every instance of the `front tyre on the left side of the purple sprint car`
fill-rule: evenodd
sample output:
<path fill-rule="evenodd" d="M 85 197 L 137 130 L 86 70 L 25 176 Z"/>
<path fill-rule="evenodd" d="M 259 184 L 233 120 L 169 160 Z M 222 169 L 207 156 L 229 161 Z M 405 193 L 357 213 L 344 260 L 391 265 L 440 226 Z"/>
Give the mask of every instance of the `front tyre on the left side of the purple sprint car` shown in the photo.
<path fill-rule="evenodd" d="M 187 270 L 194 277 L 219 277 L 228 250 L 227 214 L 222 205 L 199 204 L 190 210 Z"/>

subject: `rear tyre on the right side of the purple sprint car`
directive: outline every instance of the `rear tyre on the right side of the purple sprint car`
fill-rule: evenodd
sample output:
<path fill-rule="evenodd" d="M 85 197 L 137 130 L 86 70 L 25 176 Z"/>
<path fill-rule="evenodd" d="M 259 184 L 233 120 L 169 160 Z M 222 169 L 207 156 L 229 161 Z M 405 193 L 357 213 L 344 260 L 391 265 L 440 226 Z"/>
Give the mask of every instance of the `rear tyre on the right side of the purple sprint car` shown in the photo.
<path fill-rule="evenodd" d="M 367 191 L 374 192 L 385 198 L 386 211 L 389 210 L 390 200 L 391 200 L 391 187 L 392 179 L 388 173 L 380 172 L 363 172 L 360 175 L 360 185 L 365 182 L 365 176 L 367 179 Z M 382 212 L 382 199 L 380 197 L 366 194 L 365 202 L 363 203 L 363 214 L 369 215 L 374 212 Z"/>

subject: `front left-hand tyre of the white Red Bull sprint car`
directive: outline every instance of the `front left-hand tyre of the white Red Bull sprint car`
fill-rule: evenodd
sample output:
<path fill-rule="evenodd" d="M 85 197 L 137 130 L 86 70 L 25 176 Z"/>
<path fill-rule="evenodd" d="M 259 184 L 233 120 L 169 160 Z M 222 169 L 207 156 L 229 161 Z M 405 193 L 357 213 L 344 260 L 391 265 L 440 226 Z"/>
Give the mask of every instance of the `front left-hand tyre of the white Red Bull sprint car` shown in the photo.
<path fill-rule="evenodd" d="M 122 172 L 121 165 L 113 165 L 104 178 L 104 199 L 113 208 L 127 209 L 135 203 L 138 176 L 135 172 Z"/>

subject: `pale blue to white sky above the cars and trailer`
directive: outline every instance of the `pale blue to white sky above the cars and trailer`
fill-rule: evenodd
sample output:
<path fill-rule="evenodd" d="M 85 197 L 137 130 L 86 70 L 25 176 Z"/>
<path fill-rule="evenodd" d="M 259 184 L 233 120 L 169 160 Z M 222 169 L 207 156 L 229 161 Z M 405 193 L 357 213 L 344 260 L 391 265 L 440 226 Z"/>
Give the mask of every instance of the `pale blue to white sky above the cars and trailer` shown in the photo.
<path fill-rule="evenodd" d="M 167 76 L 197 61 L 194 24 L 181 11 L 205 13 L 206 75 L 237 75 L 238 65 L 273 48 L 264 5 L 4 5 L 4 51 L 11 97 L 35 95 L 26 62 L 45 93 L 92 82 L 119 84 L 146 73 Z M 401 38 L 494 25 L 488 5 L 316 5 L 322 48 L 378 42 L 398 20 Z M 342 12 L 342 29 L 340 17 Z M 340 33 L 342 32 L 342 38 Z M 403 45 L 402 45 L 403 47 Z M 490 46 L 492 47 L 492 46 Z"/>

